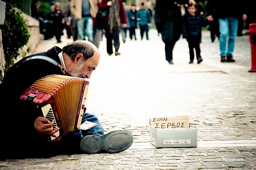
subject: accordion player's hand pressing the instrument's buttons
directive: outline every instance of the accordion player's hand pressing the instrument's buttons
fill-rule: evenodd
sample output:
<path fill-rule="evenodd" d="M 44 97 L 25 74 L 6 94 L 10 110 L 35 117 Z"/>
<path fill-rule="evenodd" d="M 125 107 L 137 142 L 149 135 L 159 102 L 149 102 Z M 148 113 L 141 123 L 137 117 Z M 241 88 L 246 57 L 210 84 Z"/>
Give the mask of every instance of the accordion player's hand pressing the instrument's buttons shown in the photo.
<path fill-rule="evenodd" d="M 34 128 L 36 131 L 38 131 L 38 133 L 57 137 L 56 135 L 54 135 L 54 133 L 56 133 L 60 128 L 56 128 L 55 130 L 53 130 L 53 123 L 54 120 L 50 122 L 45 117 L 37 117 L 34 122 Z"/>

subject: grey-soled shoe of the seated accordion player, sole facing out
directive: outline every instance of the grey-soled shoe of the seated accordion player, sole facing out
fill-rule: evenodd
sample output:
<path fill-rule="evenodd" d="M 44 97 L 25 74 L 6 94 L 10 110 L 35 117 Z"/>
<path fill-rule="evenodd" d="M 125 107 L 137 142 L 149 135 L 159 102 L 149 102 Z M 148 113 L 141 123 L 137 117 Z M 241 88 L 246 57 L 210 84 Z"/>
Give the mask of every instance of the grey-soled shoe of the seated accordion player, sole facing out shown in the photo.
<path fill-rule="evenodd" d="M 132 133 L 115 130 L 106 135 L 86 135 L 80 142 L 80 150 L 86 154 L 118 153 L 128 149 L 133 143 Z"/>

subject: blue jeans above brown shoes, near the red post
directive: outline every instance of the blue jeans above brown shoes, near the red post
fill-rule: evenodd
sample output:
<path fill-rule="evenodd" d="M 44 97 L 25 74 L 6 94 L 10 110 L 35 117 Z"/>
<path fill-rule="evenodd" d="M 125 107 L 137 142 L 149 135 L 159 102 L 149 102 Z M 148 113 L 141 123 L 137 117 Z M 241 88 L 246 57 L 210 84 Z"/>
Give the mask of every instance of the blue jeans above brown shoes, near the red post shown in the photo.
<path fill-rule="evenodd" d="M 233 17 L 227 17 L 225 19 L 219 19 L 220 23 L 220 51 L 221 56 L 232 55 L 235 46 L 235 37 L 238 28 L 238 19 Z M 227 49 L 227 37 L 228 37 L 228 50 Z"/>

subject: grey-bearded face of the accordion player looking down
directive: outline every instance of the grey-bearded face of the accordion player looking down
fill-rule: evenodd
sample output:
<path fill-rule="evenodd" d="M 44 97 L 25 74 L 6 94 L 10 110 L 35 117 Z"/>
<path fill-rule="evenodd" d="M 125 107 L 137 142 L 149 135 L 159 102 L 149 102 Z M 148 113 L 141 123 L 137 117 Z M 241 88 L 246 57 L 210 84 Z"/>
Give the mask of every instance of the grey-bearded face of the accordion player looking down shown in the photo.
<path fill-rule="evenodd" d="M 70 71 L 68 72 L 69 75 L 73 77 L 80 77 L 80 78 L 90 78 L 91 73 L 95 68 L 98 66 L 99 63 L 99 54 L 95 53 L 94 56 L 87 59 L 86 61 L 82 60 L 79 61 Z"/>

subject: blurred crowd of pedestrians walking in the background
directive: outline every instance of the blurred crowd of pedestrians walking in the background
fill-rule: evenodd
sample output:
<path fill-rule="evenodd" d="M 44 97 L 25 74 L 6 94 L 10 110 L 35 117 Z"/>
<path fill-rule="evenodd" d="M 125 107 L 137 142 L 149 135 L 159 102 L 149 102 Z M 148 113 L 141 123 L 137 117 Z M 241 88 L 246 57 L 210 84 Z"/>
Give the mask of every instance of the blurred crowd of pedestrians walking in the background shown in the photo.
<path fill-rule="evenodd" d="M 148 8 L 147 1 L 136 6 L 134 3 L 125 3 L 124 0 L 70 0 L 65 11 L 61 11 L 61 4 L 57 2 L 51 6 L 47 17 L 42 18 L 37 12 L 40 4 L 38 0 L 33 0 L 31 14 L 39 21 L 40 32 L 44 34 L 45 40 L 55 38 L 60 43 L 65 29 L 67 38 L 74 41 L 88 40 L 98 48 L 105 36 L 108 55 L 116 56 L 120 55 L 119 39 L 123 43 L 127 37 L 130 40 L 137 40 L 138 37 L 149 40 L 149 30 L 152 29 L 152 23 L 155 23 L 153 27 L 156 26 L 165 43 L 165 55 L 169 64 L 173 64 L 172 50 L 180 37 L 188 41 L 189 63 L 193 63 L 195 49 L 199 64 L 202 62 L 202 27 L 209 30 L 211 42 L 217 37 L 220 46 L 223 46 L 220 47 L 221 62 L 234 62 L 234 43 L 229 44 L 231 48 L 226 50 L 224 39 L 229 38 L 228 42 L 235 41 L 235 36 L 243 36 L 244 30 L 249 29 L 249 24 L 256 23 L 255 2 L 238 4 L 231 0 L 225 3 L 219 0 L 208 0 L 204 3 L 197 0 L 156 0 Z M 136 29 L 140 30 L 140 35 L 136 35 Z"/>

